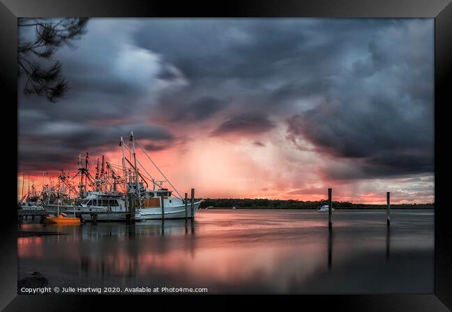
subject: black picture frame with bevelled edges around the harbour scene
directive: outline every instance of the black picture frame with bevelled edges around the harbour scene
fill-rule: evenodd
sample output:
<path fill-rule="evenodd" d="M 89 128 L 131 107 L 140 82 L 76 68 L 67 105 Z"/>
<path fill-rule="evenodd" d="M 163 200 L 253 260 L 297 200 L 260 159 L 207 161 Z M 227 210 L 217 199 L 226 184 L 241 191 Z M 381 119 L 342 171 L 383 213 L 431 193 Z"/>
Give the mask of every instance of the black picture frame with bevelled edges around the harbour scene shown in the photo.
<path fill-rule="evenodd" d="M 448 311 L 452 309 L 452 252 L 451 221 L 447 203 L 441 196 L 442 183 L 439 177 L 446 175 L 439 159 L 447 157 L 445 147 L 440 147 L 441 125 L 447 125 L 446 114 L 439 113 L 450 105 L 450 73 L 452 60 L 452 3 L 450 0 L 347 0 L 347 1 L 211 1 L 195 3 L 191 1 L 139 1 L 139 0 L 1 0 L 0 2 L 0 60 L 1 85 L 5 87 L 2 96 L 3 123 L 12 121 L 12 125 L 3 127 L 3 143 L 8 145 L 14 137 L 13 113 L 6 108 L 17 107 L 17 17 L 431 17 L 435 18 L 435 292 L 425 295 L 296 295 L 266 296 L 255 298 L 246 296 L 253 303 L 268 302 L 275 297 L 291 300 L 303 308 L 315 304 L 316 309 L 330 306 L 339 311 Z M 444 127 L 445 128 L 445 127 Z M 13 139 L 11 139 L 13 138 Z M 16 142 L 17 143 L 17 142 Z M 444 144 L 443 144 L 444 145 Z M 4 150 L 3 155 L 13 158 L 14 153 Z M 18 156 L 18 155 L 17 155 Z M 12 161 L 14 162 L 14 161 Z M 447 161 L 445 161 L 446 163 Z M 14 181 L 17 170 L 7 166 L 10 160 L 2 162 L 4 168 L 10 168 L 10 176 L 5 181 L 11 190 L 6 193 L 8 204 L 2 207 L 0 226 L 0 309 L 3 311 L 79 311 L 94 309 L 93 304 L 115 306 L 118 302 L 129 301 L 129 297 L 111 295 L 17 295 L 17 223 L 15 209 L 17 205 L 12 194 L 17 192 Z M 446 178 L 446 177 L 444 177 Z M 419 268 L 421 269 L 421 268 Z M 150 304 L 156 300 L 174 305 L 177 300 L 186 300 L 193 308 L 202 309 L 200 295 L 167 297 L 136 295 L 131 308 L 139 304 Z M 220 299 L 223 308 L 235 309 L 234 300 L 223 296 L 209 295 Z M 201 300 L 200 300 L 201 299 Z M 243 299 L 243 297 L 241 297 Z M 207 305 L 206 308 L 209 308 Z M 215 306 L 212 309 L 216 309 Z"/>

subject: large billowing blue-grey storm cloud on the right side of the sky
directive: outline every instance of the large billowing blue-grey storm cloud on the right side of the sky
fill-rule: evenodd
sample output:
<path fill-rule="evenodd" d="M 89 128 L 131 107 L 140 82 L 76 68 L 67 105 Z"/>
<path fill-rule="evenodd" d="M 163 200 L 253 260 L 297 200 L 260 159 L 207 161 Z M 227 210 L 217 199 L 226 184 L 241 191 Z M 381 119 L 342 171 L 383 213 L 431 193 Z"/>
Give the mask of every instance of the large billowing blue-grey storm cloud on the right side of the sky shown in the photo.
<path fill-rule="evenodd" d="M 289 137 L 303 137 L 333 157 L 357 159 L 360 170 L 331 166 L 328 177 L 433 172 L 430 31 L 417 33 L 411 25 L 377 38 L 366 58 L 330 80 L 321 103 L 288 120 Z M 396 41 L 401 48 L 389 53 Z"/>

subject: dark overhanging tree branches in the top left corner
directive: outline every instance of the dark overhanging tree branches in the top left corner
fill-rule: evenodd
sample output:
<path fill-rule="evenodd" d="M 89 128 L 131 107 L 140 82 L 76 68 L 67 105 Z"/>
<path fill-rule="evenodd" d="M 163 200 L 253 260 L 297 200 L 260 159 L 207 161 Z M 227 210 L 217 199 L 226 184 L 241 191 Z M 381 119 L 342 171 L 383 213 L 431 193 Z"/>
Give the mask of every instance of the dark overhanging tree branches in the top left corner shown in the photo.
<path fill-rule="evenodd" d="M 49 67 L 45 67 L 42 59 L 49 60 L 63 44 L 72 48 L 72 42 L 79 40 L 81 35 L 86 33 L 87 23 L 86 18 L 18 19 L 19 33 L 21 28 L 35 31 L 32 40 L 23 38 L 18 40 L 19 76 L 26 76 L 24 94 L 37 94 L 56 102 L 67 92 L 67 80 L 61 76 L 61 63 L 55 61 Z"/>

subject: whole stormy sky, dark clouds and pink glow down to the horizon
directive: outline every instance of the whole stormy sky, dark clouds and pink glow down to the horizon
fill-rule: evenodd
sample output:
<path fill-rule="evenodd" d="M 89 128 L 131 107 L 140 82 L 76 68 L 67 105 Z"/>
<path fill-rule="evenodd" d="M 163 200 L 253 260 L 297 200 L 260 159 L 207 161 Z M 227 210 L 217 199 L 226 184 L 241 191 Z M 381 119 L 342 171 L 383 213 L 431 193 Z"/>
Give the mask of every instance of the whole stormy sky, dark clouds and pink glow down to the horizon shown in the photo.
<path fill-rule="evenodd" d="M 19 176 L 117 163 L 133 130 L 197 196 L 434 202 L 433 23 L 90 19 L 65 98 L 19 92 Z"/>

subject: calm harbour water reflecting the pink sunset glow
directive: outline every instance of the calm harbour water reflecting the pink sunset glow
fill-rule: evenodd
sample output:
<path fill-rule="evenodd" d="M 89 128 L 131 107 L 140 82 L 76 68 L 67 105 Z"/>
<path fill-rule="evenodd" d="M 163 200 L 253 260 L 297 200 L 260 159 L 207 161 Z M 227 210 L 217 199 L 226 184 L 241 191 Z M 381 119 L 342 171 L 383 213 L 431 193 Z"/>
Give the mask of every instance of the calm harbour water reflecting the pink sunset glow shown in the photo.
<path fill-rule="evenodd" d="M 30 223 L 19 279 L 49 286 L 193 287 L 209 293 L 433 293 L 432 210 L 201 210 L 192 224 Z"/>

